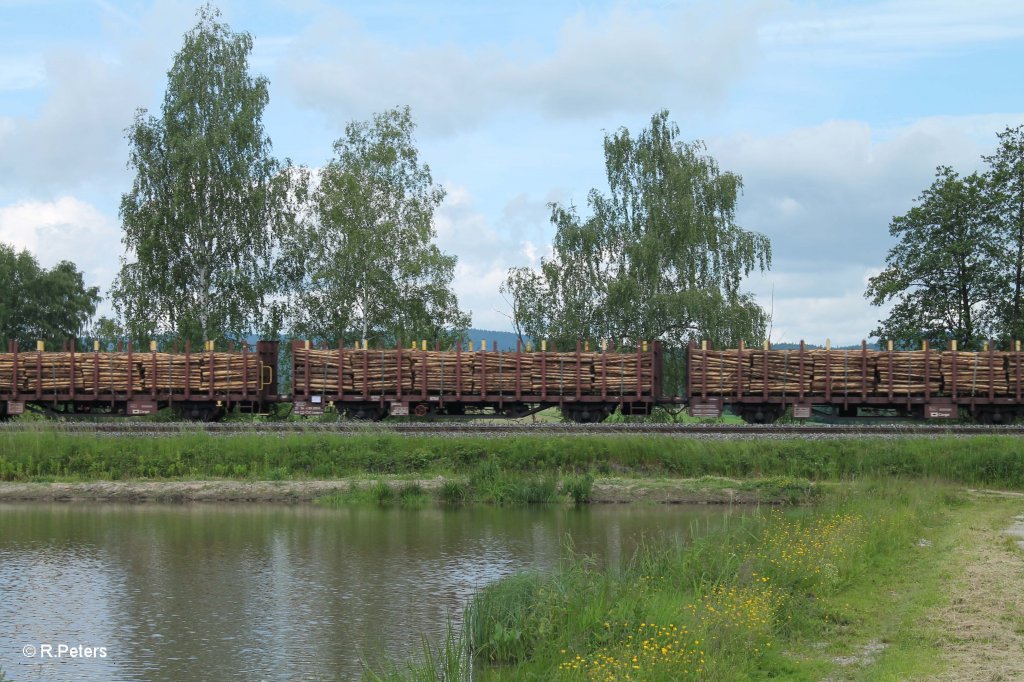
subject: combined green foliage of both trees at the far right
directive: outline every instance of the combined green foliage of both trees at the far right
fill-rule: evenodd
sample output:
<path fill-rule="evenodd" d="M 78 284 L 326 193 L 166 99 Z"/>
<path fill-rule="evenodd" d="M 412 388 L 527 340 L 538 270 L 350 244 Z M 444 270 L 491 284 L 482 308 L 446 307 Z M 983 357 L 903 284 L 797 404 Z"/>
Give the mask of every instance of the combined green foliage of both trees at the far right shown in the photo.
<path fill-rule="evenodd" d="M 868 284 L 876 305 L 896 301 L 871 332 L 900 345 L 1024 338 L 1024 126 L 998 133 L 984 173 L 940 166 L 919 205 L 889 227 L 899 243 Z"/>

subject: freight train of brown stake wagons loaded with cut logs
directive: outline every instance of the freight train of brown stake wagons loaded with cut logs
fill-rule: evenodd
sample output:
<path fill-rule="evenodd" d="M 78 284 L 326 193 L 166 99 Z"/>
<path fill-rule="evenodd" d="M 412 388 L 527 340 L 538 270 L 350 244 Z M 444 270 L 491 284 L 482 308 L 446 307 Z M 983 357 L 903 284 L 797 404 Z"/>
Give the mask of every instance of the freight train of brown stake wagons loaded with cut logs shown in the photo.
<path fill-rule="evenodd" d="M 524 417 L 558 408 L 575 422 L 600 422 L 615 411 L 647 415 L 686 408 L 695 417 L 730 411 L 752 423 L 783 415 L 809 419 L 899 416 L 1009 423 L 1024 413 L 1024 357 L 986 345 L 983 351 L 857 350 L 691 344 L 681 356 L 683 385 L 663 390 L 666 356 L 659 342 L 616 348 L 577 342 L 571 349 L 517 344 L 514 351 L 457 343 L 442 350 L 291 344 L 281 392 L 279 343 L 254 349 L 183 352 L 133 348 L 59 352 L 42 344 L 0 353 L 0 418 L 31 409 L 54 416 L 136 416 L 171 408 L 182 418 L 215 420 L 229 411 L 264 413 L 291 404 L 297 415 L 333 409 L 352 419 L 388 416 Z M 673 360 L 670 360 L 673 361 Z"/>

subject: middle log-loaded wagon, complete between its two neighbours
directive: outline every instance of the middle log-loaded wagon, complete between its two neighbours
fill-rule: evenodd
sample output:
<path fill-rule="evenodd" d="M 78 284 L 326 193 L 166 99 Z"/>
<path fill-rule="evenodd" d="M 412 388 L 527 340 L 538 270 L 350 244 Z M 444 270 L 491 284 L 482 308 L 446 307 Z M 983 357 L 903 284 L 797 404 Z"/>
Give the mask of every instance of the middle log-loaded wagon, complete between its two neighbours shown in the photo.
<path fill-rule="evenodd" d="M 291 399 L 298 414 L 333 404 L 355 419 L 385 416 L 487 415 L 525 417 L 559 408 L 575 422 L 600 422 L 618 410 L 646 415 L 662 396 L 662 346 L 638 342 L 635 350 L 602 344 L 591 350 L 514 351 L 469 343 L 440 350 L 425 341 L 410 349 L 292 347 Z"/>

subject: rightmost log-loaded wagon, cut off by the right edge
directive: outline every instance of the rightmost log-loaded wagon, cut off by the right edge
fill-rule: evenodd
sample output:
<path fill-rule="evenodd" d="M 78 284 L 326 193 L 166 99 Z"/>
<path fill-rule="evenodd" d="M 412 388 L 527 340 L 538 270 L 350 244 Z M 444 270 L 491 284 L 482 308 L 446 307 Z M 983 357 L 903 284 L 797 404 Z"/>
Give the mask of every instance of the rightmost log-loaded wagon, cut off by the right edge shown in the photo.
<path fill-rule="evenodd" d="M 737 348 L 708 344 L 688 350 L 686 402 L 691 414 L 716 417 L 725 409 L 745 421 L 771 423 L 787 410 L 840 418 L 889 415 L 957 419 L 988 424 L 1024 416 L 1024 354 L 986 343 L 981 351 Z"/>

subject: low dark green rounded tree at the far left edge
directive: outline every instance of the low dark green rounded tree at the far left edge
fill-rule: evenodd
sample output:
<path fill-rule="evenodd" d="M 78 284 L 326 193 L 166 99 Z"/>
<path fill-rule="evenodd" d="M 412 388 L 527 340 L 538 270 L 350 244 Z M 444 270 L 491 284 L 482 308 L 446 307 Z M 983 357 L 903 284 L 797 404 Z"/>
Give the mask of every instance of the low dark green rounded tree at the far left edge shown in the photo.
<path fill-rule="evenodd" d="M 0 340 L 17 341 L 23 349 L 37 339 L 62 344 L 81 338 L 96 312 L 99 288 L 86 287 L 74 263 L 62 260 L 50 269 L 39 266 L 28 251 L 0 244 Z"/>

